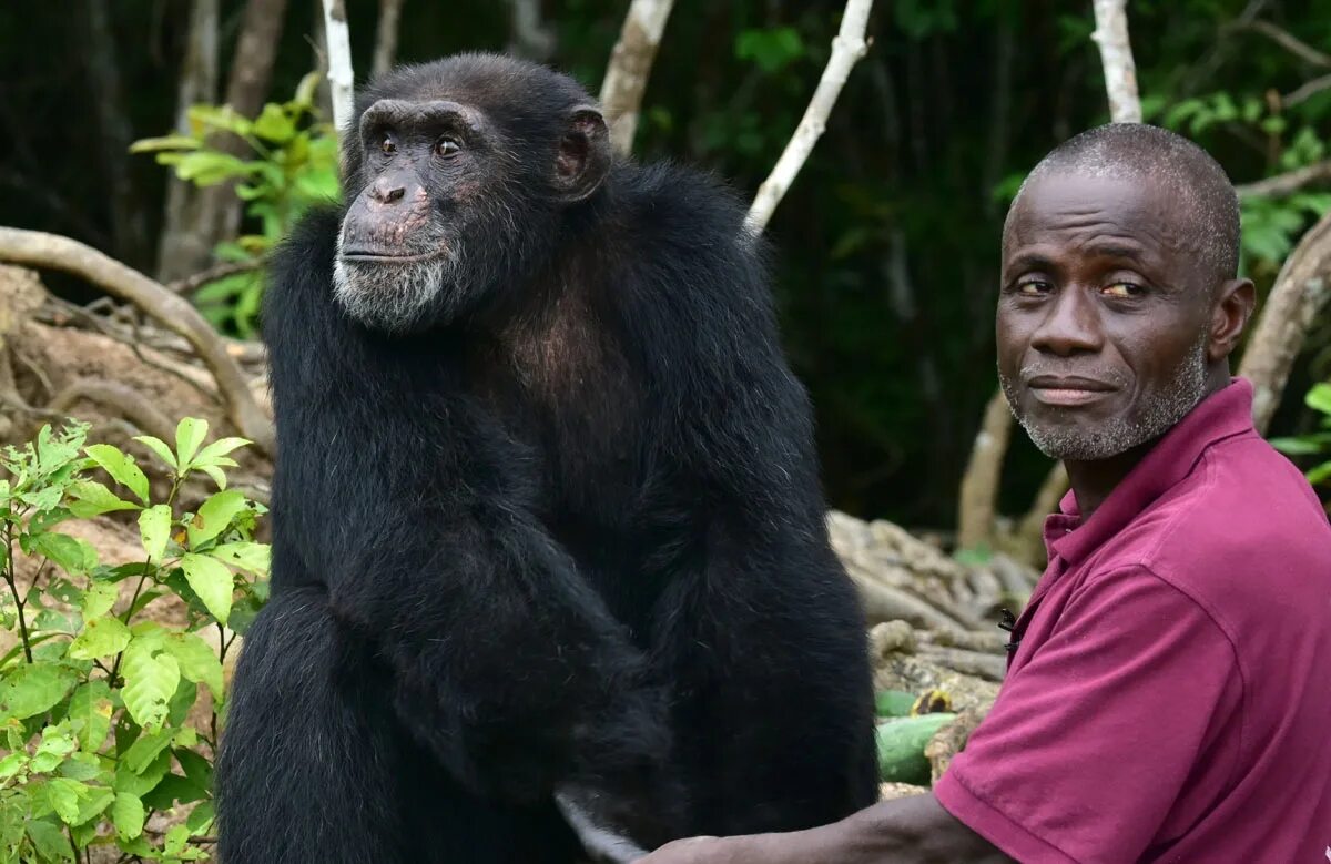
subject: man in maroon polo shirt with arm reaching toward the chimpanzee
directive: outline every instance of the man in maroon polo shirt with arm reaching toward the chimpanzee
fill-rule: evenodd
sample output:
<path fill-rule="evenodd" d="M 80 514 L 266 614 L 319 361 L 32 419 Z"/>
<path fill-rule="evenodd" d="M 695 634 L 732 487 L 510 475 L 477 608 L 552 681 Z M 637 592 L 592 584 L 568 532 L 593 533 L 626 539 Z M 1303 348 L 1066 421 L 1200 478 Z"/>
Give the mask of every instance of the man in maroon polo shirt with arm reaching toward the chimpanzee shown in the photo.
<path fill-rule="evenodd" d="M 1036 168 L 998 373 L 1073 490 L 993 711 L 928 795 L 646 864 L 1331 857 L 1331 526 L 1229 374 L 1238 240 L 1223 170 L 1173 133 L 1102 126 Z"/>

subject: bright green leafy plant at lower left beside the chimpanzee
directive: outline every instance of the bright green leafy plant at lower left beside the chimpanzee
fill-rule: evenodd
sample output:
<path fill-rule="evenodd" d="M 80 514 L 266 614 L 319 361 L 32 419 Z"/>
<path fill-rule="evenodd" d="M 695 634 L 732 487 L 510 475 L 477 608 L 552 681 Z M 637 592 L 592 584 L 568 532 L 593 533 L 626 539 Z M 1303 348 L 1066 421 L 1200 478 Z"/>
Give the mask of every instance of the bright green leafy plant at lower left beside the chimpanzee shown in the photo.
<path fill-rule="evenodd" d="M 0 656 L 0 863 L 85 860 L 97 845 L 122 860 L 206 860 L 222 663 L 268 591 L 269 550 L 253 540 L 265 510 L 226 489 L 224 473 L 249 442 L 204 446 L 198 419 L 181 421 L 174 449 L 137 438 L 169 470 L 170 491 L 154 502 L 134 458 L 85 446 L 87 429 L 43 427 L 0 459 L 0 624 L 11 638 L 0 648 L 12 643 Z M 196 473 L 218 491 L 184 513 L 178 493 Z M 117 511 L 137 514 L 141 562 L 104 564 L 56 530 Z M 158 598 L 184 606 L 184 627 L 144 614 Z M 208 728 L 193 723 L 201 688 Z M 177 805 L 184 821 L 150 825 Z"/>

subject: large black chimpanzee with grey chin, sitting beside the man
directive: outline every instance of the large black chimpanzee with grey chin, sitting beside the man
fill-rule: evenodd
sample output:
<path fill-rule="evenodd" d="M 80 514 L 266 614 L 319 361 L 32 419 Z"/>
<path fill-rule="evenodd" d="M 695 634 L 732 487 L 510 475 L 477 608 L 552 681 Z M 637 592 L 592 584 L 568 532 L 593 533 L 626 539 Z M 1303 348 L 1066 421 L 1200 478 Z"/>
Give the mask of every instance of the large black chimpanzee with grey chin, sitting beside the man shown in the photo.
<path fill-rule="evenodd" d="M 651 848 L 876 800 L 864 619 L 736 197 L 502 56 L 381 77 L 345 137 L 343 208 L 268 289 L 222 860 L 567 863 L 566 812 Z"/>

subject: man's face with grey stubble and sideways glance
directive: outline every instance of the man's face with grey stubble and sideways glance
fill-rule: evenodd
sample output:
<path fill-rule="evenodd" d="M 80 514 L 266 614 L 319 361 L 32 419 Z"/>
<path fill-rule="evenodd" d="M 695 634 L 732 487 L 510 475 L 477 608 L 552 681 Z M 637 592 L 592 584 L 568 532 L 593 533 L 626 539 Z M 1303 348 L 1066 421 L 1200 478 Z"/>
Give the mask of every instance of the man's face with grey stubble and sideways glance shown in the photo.
<path fill-rule="evenodd" d="M 1158 438 L 1207 391 L 1209 272 L 1165 184 L 1054 170 L 1002 249 L 998 375 L 1047 455 L 1093 461 Z"/>

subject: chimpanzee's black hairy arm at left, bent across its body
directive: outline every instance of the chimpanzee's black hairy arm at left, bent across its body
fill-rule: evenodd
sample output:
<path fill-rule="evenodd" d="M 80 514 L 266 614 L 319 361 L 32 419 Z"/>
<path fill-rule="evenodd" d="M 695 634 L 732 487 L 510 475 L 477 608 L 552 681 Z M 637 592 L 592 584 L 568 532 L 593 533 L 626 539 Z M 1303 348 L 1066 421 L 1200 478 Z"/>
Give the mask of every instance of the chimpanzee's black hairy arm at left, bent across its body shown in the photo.
<path fill-rule="evenodd" d="M 298 550 L 387 662 L 403 724 L 474 788 L 531 800 L 595 771 L 650 773 L 668 750 L 662 696 L 534 518 L 530 454 L 449 369 L 394 354 L 419 346 L 342 314 L 335 236 L 335 213 L 310 217 L 269 289 L 274 556 Z"/>

